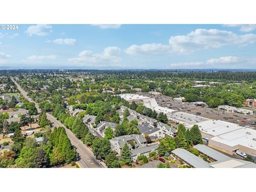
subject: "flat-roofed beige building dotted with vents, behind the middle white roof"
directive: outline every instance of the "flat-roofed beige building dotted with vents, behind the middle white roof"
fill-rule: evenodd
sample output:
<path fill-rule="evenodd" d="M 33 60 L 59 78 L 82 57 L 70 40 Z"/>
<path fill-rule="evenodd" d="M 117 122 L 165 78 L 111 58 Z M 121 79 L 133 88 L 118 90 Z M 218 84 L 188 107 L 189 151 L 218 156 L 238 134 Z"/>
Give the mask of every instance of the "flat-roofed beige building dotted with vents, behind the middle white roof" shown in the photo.
<path fill-rule="evenodd" d="M 167 118 L 177 124 L 183 124 L 186 127 L 189 125 L 194 125 L 200 122 L 208 121 L 209 118 L 200 117 L 193 114 L 188 114 L 185 112 L 177 112 L 173 114 L 167 114 Z"/>

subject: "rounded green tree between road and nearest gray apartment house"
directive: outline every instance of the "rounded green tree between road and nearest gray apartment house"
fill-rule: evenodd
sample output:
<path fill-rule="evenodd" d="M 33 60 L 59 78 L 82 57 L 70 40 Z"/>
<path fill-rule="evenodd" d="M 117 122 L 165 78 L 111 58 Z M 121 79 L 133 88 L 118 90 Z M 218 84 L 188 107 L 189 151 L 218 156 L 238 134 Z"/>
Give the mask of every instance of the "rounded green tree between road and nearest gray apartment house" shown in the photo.
<path fill-rule="evenodd" d="M 94 139 L 92 152 L 97 159 L 105 159 L 111 151 L 110 141 L 108 139 Z"/>

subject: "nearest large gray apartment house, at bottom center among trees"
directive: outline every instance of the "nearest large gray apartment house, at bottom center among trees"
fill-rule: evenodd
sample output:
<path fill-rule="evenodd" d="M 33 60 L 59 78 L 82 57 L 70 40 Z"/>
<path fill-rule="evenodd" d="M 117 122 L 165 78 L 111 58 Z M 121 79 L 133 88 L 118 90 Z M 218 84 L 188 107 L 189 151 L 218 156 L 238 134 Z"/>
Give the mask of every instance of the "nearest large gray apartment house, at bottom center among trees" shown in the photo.
<path fill-rule="evenodd" d="M 110 139 L 109 141 L 111 143 L 111 148 L 118 154 L 121 153 L 121 149 L 124 147 L 125 143 L 130 149 L 141 148 L 147 145 L 147 140 L 145 139 L 144 135 L 140 134 L 123 135 Z"/>

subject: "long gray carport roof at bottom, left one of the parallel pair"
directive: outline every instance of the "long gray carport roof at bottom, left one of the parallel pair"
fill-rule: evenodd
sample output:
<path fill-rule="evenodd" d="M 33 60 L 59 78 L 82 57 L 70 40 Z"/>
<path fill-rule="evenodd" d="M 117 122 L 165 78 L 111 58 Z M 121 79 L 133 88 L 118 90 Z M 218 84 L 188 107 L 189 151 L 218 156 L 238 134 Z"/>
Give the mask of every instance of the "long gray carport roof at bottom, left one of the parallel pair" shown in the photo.
<path fill-rule="evenodd" d="M 183 161 L 187 162 L 191 166 L 195 168 L 209 168 L 210 165 L 202 158 L 197 157 L 196 155 L 190 153 L 186 149 L 177 148 L 172 150 L 172 153 L 177 155 L 179 158 L 183 159 Z"/>

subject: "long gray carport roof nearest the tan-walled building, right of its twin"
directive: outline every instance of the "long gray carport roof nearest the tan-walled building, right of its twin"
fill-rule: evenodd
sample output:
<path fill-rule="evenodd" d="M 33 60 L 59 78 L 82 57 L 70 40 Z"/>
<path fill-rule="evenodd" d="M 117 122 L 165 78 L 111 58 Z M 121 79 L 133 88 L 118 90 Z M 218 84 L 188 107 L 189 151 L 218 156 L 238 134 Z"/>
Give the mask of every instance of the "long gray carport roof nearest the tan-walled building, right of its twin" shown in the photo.
<path fill-rule="evenodd" d="M 194 148 L 196 148 L 201 153 L 215 159 L 216 161 L 227 161 L 227 160 L 231 159 L 227 155 L 224 155 L 224 154 L 220 153 L 219 151 L 214 150 L 205 145 L 198 144 L 198 145 L 194 146 Z"/>

